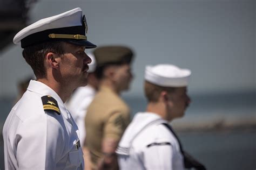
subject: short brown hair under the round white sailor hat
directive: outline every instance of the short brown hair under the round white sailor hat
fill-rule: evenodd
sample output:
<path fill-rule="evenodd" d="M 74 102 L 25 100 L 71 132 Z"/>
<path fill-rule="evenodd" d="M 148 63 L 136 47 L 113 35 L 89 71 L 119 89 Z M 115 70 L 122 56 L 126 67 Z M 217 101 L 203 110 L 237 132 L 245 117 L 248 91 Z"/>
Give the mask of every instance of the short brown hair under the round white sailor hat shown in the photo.
<path fill-rule="evenodd" d="M 167 91 L 167 93 L 171 94 L 175 89 L 175 87 L 158 86 L 150 83 L 149 81 L 144 82 L 144 93 L 146 95 L 147 102 L 158 102 L 161 91 Z"/>

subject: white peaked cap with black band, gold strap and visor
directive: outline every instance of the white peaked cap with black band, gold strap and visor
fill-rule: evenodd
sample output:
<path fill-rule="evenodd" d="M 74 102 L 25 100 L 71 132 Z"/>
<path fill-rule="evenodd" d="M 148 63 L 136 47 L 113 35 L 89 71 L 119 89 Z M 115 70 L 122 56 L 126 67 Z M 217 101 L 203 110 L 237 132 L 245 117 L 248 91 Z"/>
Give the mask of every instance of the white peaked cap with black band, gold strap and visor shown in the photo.
<path fill-rule="evenodd" d="M 85 16 L 82 16 L 82 9 L 75 8 L 56 16 L 38 20 L 19 31 L 13 41 L 14 44 L 21 44 L 22 48 L 55 40 L 83 45 L 86 48 L 95 48 L 96 45 L 87 41 L 85 36 L 87 29 Z"/>

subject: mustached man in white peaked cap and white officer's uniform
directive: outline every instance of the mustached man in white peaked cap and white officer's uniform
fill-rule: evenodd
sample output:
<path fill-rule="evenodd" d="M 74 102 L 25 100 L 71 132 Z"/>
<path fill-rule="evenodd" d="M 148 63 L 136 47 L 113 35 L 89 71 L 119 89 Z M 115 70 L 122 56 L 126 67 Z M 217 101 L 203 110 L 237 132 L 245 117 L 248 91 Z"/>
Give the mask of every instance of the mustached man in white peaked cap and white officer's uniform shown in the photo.
<path fill-rule="evenodd" d="M 3 128 L 5 169 L 84 169 L 79 131 L 64 102 L 87 84 L 87 23 L 76 8 L 18 32 L 23 57 L 35 73 Z"/>

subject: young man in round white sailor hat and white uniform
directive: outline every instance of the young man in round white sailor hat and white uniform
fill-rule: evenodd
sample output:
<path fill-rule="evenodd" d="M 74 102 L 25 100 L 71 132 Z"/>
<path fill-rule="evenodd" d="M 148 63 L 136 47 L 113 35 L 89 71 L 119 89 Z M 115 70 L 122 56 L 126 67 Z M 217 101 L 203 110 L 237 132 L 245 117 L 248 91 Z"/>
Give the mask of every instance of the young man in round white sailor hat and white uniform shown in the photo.
<path fill-rule="evenodd" d="M 192 165 L 191 160 L 185 159 L 180 141 L 169 125 L 184 115 L 190 103 L 190 75 L 190 70 L 174 65 L 146 66 L 147 108 L 134 116 L 120 140 L 116 151 L 120 169 L 179 170 L 188 167 L 185 160 Z"/>

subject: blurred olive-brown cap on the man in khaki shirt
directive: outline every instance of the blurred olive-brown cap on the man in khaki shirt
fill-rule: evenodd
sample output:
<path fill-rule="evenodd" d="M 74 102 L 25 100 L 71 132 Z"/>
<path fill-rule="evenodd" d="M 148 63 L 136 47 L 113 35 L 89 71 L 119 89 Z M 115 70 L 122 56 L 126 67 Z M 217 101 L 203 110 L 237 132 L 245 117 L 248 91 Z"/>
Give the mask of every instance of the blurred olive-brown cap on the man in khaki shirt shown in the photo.
<path fill-rule="evenodd" d="M 133 52 L 125 46 L 102 46 L 93 52 L 97 66 L 106 64 L 130 63 L 133 58 Z"/>

